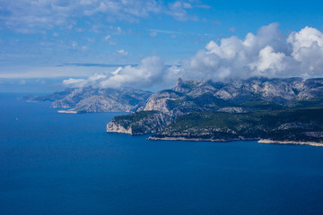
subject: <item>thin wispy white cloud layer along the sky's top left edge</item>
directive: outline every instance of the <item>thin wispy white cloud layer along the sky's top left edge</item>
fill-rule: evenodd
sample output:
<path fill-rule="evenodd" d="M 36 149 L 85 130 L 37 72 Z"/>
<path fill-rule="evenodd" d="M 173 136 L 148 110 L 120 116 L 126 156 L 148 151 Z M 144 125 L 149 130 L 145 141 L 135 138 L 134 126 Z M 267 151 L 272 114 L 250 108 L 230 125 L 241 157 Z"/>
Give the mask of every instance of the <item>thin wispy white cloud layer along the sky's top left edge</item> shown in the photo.
<path fill-rule="evenodd" d="M 190 1 L 164 4 L 156 0 L 1 0 L 0 9 L 8 14 L 0 16 L 0 21 L 13 30 L 31 33 L 31 29 L 53 29 L 56 26 L 72 29 L 77 25 L 75 21 L 84 16 L 103 16 L 108 22 L 139 22 L 151 14 L 162 13 L 169 14 L 178 21 L 196 19 L 188 10 L 201 5 L 188 2 Z"/>

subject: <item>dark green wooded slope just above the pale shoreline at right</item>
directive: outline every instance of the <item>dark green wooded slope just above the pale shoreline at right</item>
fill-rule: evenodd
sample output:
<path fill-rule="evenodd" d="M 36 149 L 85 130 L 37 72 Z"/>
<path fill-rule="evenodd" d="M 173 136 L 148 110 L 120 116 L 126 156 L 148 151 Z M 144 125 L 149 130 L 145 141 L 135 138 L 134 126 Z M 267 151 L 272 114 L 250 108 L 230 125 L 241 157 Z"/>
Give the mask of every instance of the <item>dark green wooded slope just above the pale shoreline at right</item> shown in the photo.
<path fill-rule="evenodd" d="M 322 142 L 322 128 L 323 107 L 260 110 L 244 114 L 196 112 L 179 116 L 162 133 L 154 136 Z"/>

